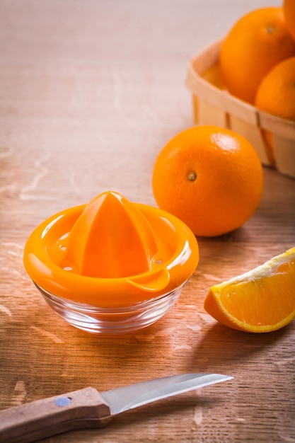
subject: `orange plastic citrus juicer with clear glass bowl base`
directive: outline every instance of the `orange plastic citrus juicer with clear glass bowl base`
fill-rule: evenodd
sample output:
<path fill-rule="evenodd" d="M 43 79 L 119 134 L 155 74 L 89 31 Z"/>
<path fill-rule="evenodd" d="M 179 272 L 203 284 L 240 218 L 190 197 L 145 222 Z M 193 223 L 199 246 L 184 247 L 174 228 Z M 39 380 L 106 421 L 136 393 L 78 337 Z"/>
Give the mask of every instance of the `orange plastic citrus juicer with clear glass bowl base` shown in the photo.
<path fill-rule="evenodd" d="M 52 309 L 100 333 L 157 321 L 198 261 L 197 240 L 183 222 L 112 191 L 45 220 L 24 250 L 25 269 Z"/>

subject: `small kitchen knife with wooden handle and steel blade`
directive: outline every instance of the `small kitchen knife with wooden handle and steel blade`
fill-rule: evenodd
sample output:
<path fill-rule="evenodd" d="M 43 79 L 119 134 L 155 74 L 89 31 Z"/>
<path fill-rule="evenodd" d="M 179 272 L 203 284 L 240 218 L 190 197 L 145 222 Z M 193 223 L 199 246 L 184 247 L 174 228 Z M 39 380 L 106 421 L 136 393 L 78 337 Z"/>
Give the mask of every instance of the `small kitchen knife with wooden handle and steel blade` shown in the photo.
<path fill-rule="evenodd" d="M 33 401 L 0 411 L 0 442 L 30 443 L 70 430 L 103 427 L 112 415 L 232 378 L 222 374 L 180 374 L 101 393 L 84 388 Z"/>

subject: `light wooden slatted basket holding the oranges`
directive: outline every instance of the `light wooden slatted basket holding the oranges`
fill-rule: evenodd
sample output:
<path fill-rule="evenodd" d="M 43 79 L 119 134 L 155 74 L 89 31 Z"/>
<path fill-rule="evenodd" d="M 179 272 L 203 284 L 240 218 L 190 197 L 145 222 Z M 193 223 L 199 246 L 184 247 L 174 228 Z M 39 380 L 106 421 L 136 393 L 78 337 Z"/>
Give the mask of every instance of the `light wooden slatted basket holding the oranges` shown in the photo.
<path fill-rule="evenodd" d="M 238 132 L 255 146 L 262 164 L 295 178 L 295 122 L 264 113 L 226 91 L 218 65 L 221 43 L 193 57 L 187 71 L 195 124 Z M 270 134 L 272 143 L 267 143 Z"/>

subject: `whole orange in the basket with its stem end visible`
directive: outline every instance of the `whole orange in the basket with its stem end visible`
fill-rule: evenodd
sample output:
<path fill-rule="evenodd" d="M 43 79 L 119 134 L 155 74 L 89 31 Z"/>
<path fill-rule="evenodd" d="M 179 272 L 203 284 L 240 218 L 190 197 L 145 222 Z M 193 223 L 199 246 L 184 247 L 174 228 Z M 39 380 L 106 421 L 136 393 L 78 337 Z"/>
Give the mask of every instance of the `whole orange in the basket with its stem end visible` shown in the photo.
<path fill-rule="evenodd" d="M 294 1 L 294 0 L 293 0 Z M 254 103 L 263 77 L 282 60 L 295 55 L 283 8 L 255 9 L 233 25 L 220 51 L 219 64 L 226 88 Z"/>

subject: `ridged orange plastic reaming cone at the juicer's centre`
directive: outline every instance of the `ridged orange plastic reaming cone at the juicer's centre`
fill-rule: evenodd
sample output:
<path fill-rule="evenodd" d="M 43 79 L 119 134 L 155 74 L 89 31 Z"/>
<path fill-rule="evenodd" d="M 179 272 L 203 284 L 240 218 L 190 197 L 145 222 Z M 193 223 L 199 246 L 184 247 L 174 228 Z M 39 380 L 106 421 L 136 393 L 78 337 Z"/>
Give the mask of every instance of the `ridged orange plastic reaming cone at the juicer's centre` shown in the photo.
<path fill-rule="evenodd" d="M 66 260 L 88 277 L 127 277 L 150 270 L 156 236 L 137 207 L 105 192 L 83 210 L 69 233 Z"/>

